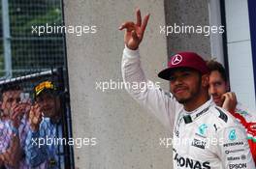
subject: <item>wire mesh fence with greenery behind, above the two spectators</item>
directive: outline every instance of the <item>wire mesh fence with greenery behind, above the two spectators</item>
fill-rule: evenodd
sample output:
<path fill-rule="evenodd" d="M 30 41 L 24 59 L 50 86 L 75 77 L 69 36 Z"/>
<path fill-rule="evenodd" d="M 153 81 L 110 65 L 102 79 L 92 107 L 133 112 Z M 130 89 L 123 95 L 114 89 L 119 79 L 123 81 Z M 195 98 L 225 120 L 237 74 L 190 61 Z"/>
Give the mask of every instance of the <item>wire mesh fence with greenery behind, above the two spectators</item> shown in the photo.
<path fill-rule="evenodd" d="M 61 0 L 0 0 L 0 75 L 18 76 L 65 67 L 62 33 L 35 28 L 63 25 Z"/>

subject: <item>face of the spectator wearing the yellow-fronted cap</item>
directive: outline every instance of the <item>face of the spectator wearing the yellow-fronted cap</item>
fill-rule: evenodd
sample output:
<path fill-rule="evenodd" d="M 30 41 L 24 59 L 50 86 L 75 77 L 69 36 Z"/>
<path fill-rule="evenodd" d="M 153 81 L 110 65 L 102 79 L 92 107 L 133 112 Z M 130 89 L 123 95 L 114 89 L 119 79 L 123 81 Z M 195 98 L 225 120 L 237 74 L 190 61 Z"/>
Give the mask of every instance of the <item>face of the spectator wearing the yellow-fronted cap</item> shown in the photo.
<path fill-rule="evenodd" d="M 57 97 L 52 94 L 44 93 L 37 97 L 36 101 L 42 108 L 45 117 L 52 118 L 57 115 L 60 107 L 60 102 Z"/>

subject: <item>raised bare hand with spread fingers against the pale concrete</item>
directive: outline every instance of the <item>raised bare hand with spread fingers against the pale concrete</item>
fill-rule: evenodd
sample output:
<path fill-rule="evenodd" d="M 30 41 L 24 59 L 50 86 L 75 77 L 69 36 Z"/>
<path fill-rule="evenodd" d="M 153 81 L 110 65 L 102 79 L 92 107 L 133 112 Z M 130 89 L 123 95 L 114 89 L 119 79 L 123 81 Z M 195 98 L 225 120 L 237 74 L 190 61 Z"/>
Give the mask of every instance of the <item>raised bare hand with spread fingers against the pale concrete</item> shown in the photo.
<path fill-rule="evenodd" d="M 132 21 L 124 22 L 119 30 L 126 29 L 124 34 L 124 42 L 126 46 L 132 50 L 136 50 L 140 43 L 144 38 L 144 30 L 149 19 L 149 14 L 144 16 L 144 20 L 142 21 L 142 14 L 140 9 L 136 10 L 137 22 L 134 23 Z"/>

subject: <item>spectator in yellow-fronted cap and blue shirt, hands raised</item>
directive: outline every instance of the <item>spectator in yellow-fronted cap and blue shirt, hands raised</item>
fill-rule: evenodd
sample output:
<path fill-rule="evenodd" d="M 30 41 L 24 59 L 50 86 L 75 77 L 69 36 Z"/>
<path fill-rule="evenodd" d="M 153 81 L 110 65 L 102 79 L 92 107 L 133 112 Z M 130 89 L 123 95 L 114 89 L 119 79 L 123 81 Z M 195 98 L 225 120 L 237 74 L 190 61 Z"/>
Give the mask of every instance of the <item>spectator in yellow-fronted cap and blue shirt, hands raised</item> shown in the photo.
<path fill-rule="evenodd" d="M 62 142 L 62 106 L 60 96 L 51 81 L 34 89 L 35 104 L 29 113 L 30 131 L 26 140 L 26 158 L 32 167 L 61 168 L 64 165 Z"/>

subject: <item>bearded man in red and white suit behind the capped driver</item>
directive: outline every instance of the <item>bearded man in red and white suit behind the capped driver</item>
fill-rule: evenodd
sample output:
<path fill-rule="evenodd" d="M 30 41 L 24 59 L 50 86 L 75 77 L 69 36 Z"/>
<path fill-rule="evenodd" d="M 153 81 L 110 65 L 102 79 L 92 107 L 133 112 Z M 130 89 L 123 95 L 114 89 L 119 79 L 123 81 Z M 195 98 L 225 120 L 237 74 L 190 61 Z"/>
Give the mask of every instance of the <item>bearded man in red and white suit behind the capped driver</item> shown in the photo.
<path fill-rule="evenodd" d="M 210 60 L 208 69 L 210 70 L 208 93 L 218 106 L 228 110 L 246 128 L 248 143 L 256 163 L 256 110 L 248 110 L 237 101 L 235 93 L 230 92 L 226 71 L 220 63 Z"/>

